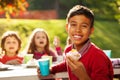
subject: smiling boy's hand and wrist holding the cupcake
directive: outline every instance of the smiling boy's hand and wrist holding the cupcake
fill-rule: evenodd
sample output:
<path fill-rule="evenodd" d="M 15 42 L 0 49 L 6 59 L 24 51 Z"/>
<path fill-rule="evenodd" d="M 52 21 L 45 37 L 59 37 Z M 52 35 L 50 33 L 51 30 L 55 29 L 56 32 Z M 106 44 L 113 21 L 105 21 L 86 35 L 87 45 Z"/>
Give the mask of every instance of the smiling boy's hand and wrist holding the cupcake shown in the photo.
<path fill-rule="evenodd" d="M 72 59 L 71 56 L 66 56 L 67 65 L 70 67 L 73 74 L 80 80 L 90 80 L 86 69 L 81 61 Z"/>

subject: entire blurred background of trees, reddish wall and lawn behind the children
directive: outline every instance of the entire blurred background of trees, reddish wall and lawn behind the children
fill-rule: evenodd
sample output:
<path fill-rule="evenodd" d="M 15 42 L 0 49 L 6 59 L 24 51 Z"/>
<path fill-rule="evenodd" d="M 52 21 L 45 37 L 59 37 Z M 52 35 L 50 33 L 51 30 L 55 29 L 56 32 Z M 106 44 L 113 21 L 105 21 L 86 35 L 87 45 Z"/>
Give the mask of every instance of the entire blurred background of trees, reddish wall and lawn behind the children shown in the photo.
<path fill-rule="evenodd" d="M 113 58 L 120 57 L 120 0 L 0 0 L 0 36 L 8 30 L 18 31 L 22 51 L 31 32 L 44 28 L 51 47 L 54 36 L 59 36 L 64 50 L 65 18 L 76 4 L 89 7 L 95 14 L 92 42 L 103 50 L 111 50 Z"/>

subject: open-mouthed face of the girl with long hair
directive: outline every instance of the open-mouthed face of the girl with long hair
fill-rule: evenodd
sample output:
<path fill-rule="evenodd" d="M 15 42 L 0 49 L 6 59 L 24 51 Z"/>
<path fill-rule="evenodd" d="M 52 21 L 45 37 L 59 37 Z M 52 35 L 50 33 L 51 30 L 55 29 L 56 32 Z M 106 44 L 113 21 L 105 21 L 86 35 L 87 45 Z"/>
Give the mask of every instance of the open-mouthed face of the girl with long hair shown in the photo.
<path fill-rule="evenodd" d="M 34 40 L 37 48 L 44 48 L 47 45 L 47 37 L 44 32 L 37 32 Z"/>

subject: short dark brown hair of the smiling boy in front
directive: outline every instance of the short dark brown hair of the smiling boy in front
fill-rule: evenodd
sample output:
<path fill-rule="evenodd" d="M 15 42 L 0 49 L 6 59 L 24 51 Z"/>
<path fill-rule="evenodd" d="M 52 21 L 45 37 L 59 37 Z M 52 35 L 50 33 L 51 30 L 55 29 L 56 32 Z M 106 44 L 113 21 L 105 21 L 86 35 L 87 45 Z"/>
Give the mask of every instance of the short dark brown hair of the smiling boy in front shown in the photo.
<path fill-rule="evenodd" d="M 69 22 L 69 19 L 73 16 L 76 15 L 84 15 L 87 18 L 90 19 L 91 21 L 91 27 L 93 27 L 94 24 L 94 13 L 87 7 L 82 6 L 82 5 L 76 5 L 74 6 L 72 9 L 70 9 L 70 11 L 68 12 L 67 18 L 66 18 L 66 22 Z"/>

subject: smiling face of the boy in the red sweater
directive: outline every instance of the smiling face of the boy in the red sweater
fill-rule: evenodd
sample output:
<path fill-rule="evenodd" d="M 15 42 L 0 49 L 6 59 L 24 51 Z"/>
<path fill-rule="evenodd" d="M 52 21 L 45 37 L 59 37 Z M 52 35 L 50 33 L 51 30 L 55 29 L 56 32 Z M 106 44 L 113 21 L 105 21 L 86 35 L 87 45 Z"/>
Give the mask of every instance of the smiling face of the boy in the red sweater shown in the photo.
<path fill-rule="evenodd" d="M 74 45 L 82 47 L 85 44 L 93 32 L 93 27 L 91 28 L 90 25 L 90 19 L 84 15 L 76 15 L 69 19 L 66 30 Z"/>

